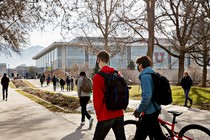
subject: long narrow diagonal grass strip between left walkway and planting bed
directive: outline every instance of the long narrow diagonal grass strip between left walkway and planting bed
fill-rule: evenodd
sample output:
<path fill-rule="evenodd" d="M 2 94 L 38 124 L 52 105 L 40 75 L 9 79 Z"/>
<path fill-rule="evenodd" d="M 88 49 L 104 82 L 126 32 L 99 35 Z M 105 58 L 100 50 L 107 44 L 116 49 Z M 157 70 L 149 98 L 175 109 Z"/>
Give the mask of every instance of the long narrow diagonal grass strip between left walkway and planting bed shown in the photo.
<path fill-rule="evenodd" d="M 64 113 L 69 113 L 68 111 L 65 111 L 55 105 L 52 105 L 51 103 L 48 103 L 44 100 L 41 100 L 40 98 L 34 96 L 34 95 L 31 95 L 31 94 L 28 94 L 22 90 L 16 90 L 18 93 L 30 98 L 32 101 L 44 106 L 45 108 L 47 108 L 48 110 L 52 111 L 52 112 L 64 112 Z"/>

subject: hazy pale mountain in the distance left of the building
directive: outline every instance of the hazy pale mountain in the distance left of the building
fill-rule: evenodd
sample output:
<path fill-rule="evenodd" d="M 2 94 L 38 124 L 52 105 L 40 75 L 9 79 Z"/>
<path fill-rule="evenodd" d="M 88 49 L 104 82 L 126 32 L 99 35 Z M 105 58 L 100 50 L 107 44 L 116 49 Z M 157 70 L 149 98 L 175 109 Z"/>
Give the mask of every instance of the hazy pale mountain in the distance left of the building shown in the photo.
<path fill-rule="evenodd" d="M 11 57 L 1 52 L 0 63 L 6 63 L 7 67 L 9 66 L 9 68 L 16 68 L 20 65 L 35 66 L 35 60 L 32 60 L 32 57 L 43 49 L 44 47 L 42 46 L 32 46 L 29 48 L 24 48 L 21 49 L 21 55 L 10 51 Z"/>

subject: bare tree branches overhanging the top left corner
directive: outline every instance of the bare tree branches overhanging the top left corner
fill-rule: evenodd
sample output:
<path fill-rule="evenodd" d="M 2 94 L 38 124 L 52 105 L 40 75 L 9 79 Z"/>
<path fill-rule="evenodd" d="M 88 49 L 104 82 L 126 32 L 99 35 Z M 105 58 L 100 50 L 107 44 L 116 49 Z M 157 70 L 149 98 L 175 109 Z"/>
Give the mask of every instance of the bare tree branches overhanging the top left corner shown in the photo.
<path fill-rule="evenodd" d="M 0 51 L 20 53 L 20 47 L 29 43 L 33 29 L 43 30 L 49 23 L 55 24 L 60 16 L 59 0 L 1 0 L 0 1 Z"/>

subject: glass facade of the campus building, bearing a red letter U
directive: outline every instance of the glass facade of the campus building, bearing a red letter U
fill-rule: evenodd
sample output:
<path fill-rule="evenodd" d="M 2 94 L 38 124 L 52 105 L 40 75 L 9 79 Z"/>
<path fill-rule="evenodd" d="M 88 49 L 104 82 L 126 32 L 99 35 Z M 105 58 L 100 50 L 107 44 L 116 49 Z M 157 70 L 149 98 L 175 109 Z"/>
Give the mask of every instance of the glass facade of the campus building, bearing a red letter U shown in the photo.
<path fill-rule="evenodd" d="M 97 48 L 102 47 L 102 45 L 97 46 Z M 114 50 L 119 53 L 110 58 L 110 66 L 114 68 L 127 68 L 130 60 L 136 62 L 138 57 L 145 56 L 147 53 L 147 46 L 144 45 L 144 43 L 139 44 L 139 46 L 138 44 L 131 45 L 128 46 L 128 48 L 123 48 L 118 51 Z M 61 44 L 37 59 L 36 65 L 45 70 L 48 67 L 51 67 L 51 62 L 53 62 L 53 69 L 71 68 L 74 64 L 83 66 L 85 63 L 92 69 L 95 67 L 96 54 L 91 51 L 88 52 L 85 47 L 75 45 L 62 46 Z M 153 67 L 155 69 L 178 68 L 178 59 L 170 56 L 167 52 L 157 46 L 154 48 L 153 62 Z M 186 65 L 190 64 L 190 60 L 185 62 Z"/>

